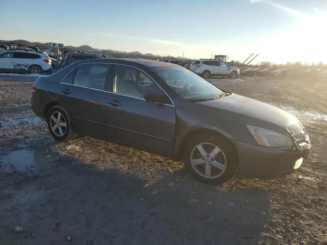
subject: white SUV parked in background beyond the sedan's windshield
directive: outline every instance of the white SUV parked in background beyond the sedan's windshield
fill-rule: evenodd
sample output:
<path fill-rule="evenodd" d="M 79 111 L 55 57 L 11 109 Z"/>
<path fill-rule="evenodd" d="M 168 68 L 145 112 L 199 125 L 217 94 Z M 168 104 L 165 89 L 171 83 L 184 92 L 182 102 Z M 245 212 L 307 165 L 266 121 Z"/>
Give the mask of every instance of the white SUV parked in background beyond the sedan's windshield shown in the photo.
<path fill-rule="evenodd" d="M 205 79 L 213 75 L 230 78 L 237 78 L 240 75 L 239 68 L 230 66 L 223 60 L 195 60 L 190 65 L 190 70 Z"/>

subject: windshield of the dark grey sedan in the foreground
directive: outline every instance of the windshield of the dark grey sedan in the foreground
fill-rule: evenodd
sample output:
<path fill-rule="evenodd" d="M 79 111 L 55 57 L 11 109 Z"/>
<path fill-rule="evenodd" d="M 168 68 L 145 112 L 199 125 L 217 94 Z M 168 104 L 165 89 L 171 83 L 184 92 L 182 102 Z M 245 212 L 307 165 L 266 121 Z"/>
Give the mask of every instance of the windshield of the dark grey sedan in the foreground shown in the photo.
<path fill-rule="evenodd" d="M 223 93 L 213 84 L 183 67 L 155 67 L 152 70 L 178 95 L 189 101 L 214 100 Z"/>

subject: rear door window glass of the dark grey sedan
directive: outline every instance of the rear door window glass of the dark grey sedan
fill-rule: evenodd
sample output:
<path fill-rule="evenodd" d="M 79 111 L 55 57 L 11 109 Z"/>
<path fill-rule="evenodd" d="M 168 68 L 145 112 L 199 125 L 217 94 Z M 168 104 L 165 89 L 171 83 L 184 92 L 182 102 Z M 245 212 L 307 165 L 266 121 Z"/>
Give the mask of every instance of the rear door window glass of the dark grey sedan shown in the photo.
<path fill-rule="evenodd" d="M 103 90 L 108 70 L 109 64 L 82 64 L 76 68 L 73 84 Z"/>

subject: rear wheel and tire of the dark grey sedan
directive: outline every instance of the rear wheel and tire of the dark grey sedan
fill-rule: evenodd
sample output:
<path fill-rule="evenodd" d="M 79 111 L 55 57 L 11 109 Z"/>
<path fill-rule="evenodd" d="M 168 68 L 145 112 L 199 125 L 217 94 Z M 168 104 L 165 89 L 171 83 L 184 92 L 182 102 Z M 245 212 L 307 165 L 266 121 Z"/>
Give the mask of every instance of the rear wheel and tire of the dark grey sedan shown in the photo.
<path fill-rule="evenodd" d="M 77 134 L 71 127 L 71 120 L 67 112 L 61 106 L 51 107 L 46 114 L 46 122 L 51 135 L 58 141 L 68 141 L 77 137 Z"/>

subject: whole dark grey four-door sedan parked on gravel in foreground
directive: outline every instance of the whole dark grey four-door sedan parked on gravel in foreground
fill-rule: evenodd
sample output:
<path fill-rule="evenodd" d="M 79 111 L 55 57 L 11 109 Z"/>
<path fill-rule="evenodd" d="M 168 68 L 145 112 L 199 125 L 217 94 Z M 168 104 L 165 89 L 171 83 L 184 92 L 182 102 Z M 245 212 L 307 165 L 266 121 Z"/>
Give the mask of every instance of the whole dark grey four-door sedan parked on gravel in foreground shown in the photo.
<path fill-rule="evenodd" d="M 59 141 L 77 135 L 184 160 L 198 180 L 292 173 L 311 148 L 292 114 L 223 91 L 192 71 L 143 59 L 73 63 L 32 88 L 34 113 Z"/>

